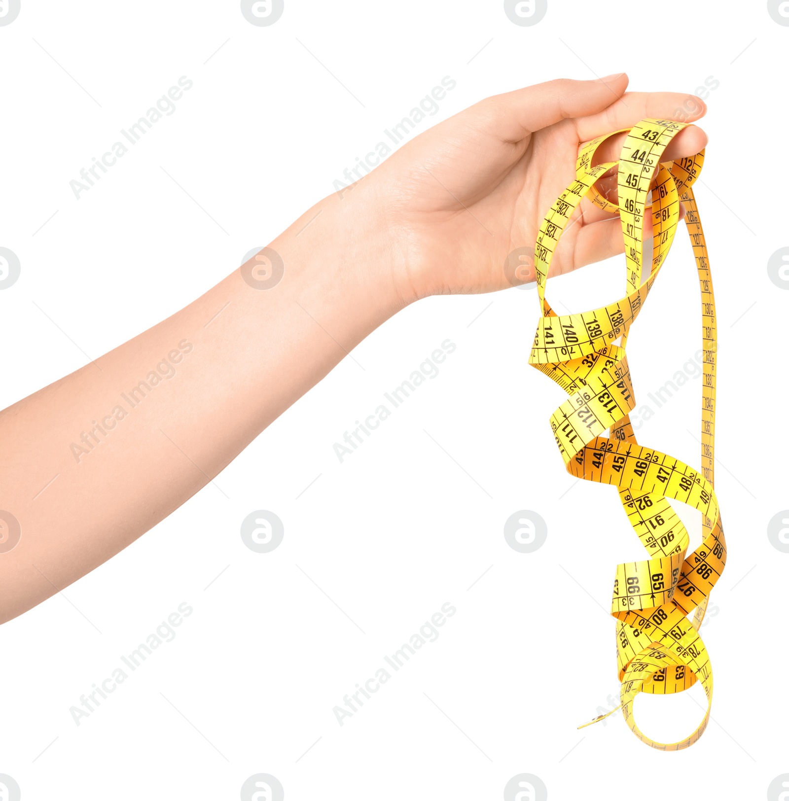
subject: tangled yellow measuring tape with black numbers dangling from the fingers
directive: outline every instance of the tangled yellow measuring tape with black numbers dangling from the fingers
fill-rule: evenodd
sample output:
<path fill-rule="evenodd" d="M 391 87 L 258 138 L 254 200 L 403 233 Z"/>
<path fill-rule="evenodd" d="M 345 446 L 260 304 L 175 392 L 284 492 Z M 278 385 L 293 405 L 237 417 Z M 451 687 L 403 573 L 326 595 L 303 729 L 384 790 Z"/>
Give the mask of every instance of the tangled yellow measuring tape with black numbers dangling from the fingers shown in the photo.
<path fill-rule="evenodd" d="M 710 591 L 726 563 L 726 541 L 713 489 L 715 299 L 691 188 L 701 172 L 704 151 L 690 159 L 660 160 L 668 143 L 684 127 L 670 120 L 643 119 L 631 129 L 615 131 L 582 147 L 576 179 L 550 207 L 537 235 L 534 266 L 542 316 L 529 356 L 529 364 L 556 381 L 569 396 L 550 418 L 567 472 L 587 481 L 614 485 L 630 525 L 646 548 L 648 558 L 617 566 L 611 614 L 617 620 L 622 714 L 638 739 L 662 751 L 689 747 L 701 737 L 710 719 L 712 668 L 698 629 Z M 629 132 L 618 162 L 593 167 L 602 142 L 625 131 Z M 617 164 L 618 204 L 614 204 L 594 183 Z M 656 183 L 650 190 L 653 180 Z M 645 272 L 643 225 L 650 213 L 650 191 L 654 247 L 650 270 Z M 618 212 L 622 219 L 626 296 L 593 312 L 558 315 L 545 300 L 545 280 L 562 231 L 585 196 L 606 211 Z M 701 471 L 639 445 L 628 417 L 635 400 L 625 353 L 627 335 L 674 240 L 680 200 L 686 207 L 685 223 L 702 293 Z M 610 429 L 608 437 L 602 436 L 606 429 Z M 669 498 L 702 512 L 702 544 L 689 555 L 688 533 Z M 687 615 L 694 610 L 691 622 Z M 678 693 L 697 681 L 706 694 L 706 713 L 687 739 L 656 743 L 642 734 L 633 716 L 633 702 L 639 692 Z"/>

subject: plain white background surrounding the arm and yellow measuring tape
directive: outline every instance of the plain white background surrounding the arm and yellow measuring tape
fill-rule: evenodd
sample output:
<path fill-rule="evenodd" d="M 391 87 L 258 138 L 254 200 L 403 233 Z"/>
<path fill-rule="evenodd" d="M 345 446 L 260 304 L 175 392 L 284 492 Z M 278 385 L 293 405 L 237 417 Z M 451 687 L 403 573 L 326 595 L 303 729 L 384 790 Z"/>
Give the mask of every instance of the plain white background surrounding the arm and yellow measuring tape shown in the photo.
<path fill-rule="evenodd" d="M 692 93 L 714 77 L 697 198 L 719 312 L 729 544 L 702 629 L 716 690 L 702 739 L 654 751 L 619 713 L 578 731 L 618 695 L 604 608 L 614 566 L 643 549 L 613 490 L 563 470 L 548 424 L 562 392 L 527 364 L 536 292 L 421 301 L 215 485 L 0 628 L 0 773 L 22 798 L 237 799 L 260 772 L 287 799 L 498 799 L 524 772 L 551 799 L 662 799 L 670 787 L 762 798 L 789 771 L 789 554 L 766 533 L 789 506 L 789 292 L 767 276 L 789 245 L 787 37 L 763 2 L 550 0 L 521 27 L 501 2 L 286 0 L 275 25 L 256 27 L 238 2 L 22 0 L 0 27 L 0 246 L 22 264 L 0 292 L 2 407 L 206 291 L 445 75 L 457 87 L 419 130 L 549 78 L 626 70 L 632 90 Z M 194 86 L 175 113 L 75 199 L 80 168 L 182 75 Z M 622 295 L 623 267 L 552 280 L 548 296 L 596 308 Z M 639 403 L 701 347 L 699 326 L 679 231 L 628 343 Z M 447 338 L 457 350 L 441 373 L 340 464 L 334 442 Z M 689 380 L 639 440 L 698 465 L 700 393 Z M 284 521 L 272 553 L 241 541 L 256 509 Z M 534 553 L 503 537 L 519 509 L 547 522 Z M 77 726 L 70 706 L 182 602 L 194 612 L 175 639 Z M 445 602 L 457 614 L 437 641 L 340 727 L 332 708 Z M 685 737 L 702 716 L 694 698 L 698 686 L 640 697 L 642 729 Z"/>

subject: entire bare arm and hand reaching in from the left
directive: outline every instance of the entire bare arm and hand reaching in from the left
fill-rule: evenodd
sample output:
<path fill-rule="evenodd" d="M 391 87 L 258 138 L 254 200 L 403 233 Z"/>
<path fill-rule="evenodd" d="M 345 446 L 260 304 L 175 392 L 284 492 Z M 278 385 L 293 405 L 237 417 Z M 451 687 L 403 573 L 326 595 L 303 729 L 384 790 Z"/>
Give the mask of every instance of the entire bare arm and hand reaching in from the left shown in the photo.
<path fill-rule="evenodd" d="M 533 245 L 549 204 L 574 177 L 579 143 L 644 117 L 675 119 L 688 100 L 625 94 L 626 85 L 625 74 L 561 80 L 477 103 L 277 236 L 269 247 L 285 269 L 273 288 L 253 288 L 236 270 L 0 412 L 0 509 L 12 516 L 0 521 L 0 622 L 167 517 L 401 308 L 438 293 L 507 288 L 505 258 Z M 698 112 L 683 122 L 705 113 L 693 102 Z M 616 159 L 621 144 L 622 136 L 608 140 L 602 159 Z M 690 126 L 665 159 L 705 144 Z M 614 176 L 604 189 L 615 197 Z M 552 274 L 622 252 L 618 216 L 586 202 L 581 211 Z"/>

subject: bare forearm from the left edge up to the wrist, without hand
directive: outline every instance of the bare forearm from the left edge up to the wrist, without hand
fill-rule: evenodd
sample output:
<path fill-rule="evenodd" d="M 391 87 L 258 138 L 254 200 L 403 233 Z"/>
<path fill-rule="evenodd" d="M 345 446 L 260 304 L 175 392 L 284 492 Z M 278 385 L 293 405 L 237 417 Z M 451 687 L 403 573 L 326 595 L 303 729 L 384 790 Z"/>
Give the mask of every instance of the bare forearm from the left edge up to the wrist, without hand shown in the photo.
<path fill-rule="evenodd" d="M 236 270 L 0 413 L 0 622 L 167 517 L 401 308 L 359 206 L 331 195 L 277 237 L 278 283 Z"/>

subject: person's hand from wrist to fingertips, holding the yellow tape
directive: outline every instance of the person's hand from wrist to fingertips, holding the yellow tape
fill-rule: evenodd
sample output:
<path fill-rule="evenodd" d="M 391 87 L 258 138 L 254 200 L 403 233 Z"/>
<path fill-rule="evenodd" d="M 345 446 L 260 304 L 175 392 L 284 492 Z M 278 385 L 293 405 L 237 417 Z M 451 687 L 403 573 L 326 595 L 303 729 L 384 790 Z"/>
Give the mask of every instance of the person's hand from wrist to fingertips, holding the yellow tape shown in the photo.
<path fill-rule="evenodd" d="M 627 83 L 622 73 L 496 95 L 417 136 L 365 178 L 354 204 L 375 207 L 386 227 L 403 300 L 511 286 L 505 260 L 515 248 L 533 247 L 550 204 L 574 179 L 579 143 L 645 117 L 677 119 L 681 109 L 681 121 L 689 122 L 706 112 L 695 95 L 625 94 Z M 689 107 L 695 111 L 688 114 Z M 616 160 L 624 137 L 604 143 L 598 163 Z M 665 160 L 694 155 L 705 144 L 704 132 L 690 126 L 666 148 Z M 601 183 L 615 199 L 616 175 Z M 622 251 L 618 215 L 585 199 L 562 236 L 551 275 Z"/>

